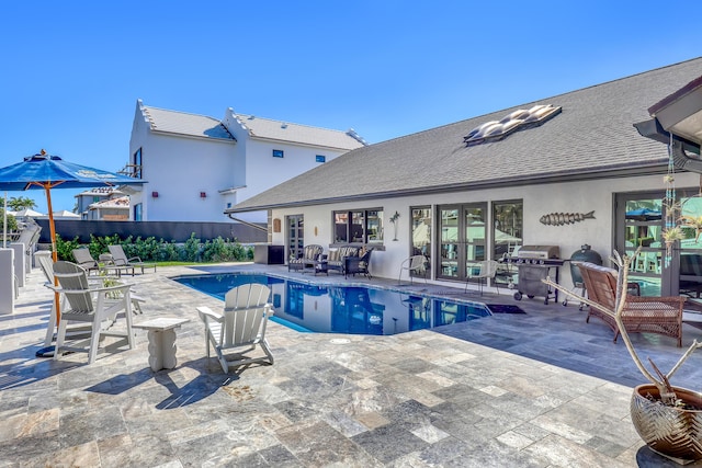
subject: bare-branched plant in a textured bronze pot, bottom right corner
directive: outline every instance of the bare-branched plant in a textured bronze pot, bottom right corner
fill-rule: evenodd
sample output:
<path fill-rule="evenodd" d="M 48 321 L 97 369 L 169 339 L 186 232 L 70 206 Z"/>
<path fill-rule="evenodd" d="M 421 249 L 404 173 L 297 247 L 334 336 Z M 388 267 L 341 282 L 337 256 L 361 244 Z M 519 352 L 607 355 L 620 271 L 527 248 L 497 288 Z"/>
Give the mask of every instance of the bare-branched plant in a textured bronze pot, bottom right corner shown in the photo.
<path fill-rule="evenodd" d="M 551 279 L 545 279 L 545 282 L 564 294 L 581 300 L 590 307 L 597 307 L 614 318 L 634 364 L 648 380 L 648 384 L 634 388 L 630 407 L 632 423 L 648 447 L 679 464 L 700 460 L 702 459 L 702 393 L 675 387 L 670 384 L 670 378 L 697 349 L 702 347 L 702 343 L 694 340 L 667 374 L 660 372 L 650 358 L 648 362 L 653 370 L 644 365 L 622 320 L 626 301 L 629 269 L 637 254 L 638 250 L 632 256 L 624 255 L 622 258 L 615 251 L 614 256 L 611 258 L 620 272 L 614 310 L 604 310 L 602 305 L 595 304 L 588 298 L 581 298 Z"/>

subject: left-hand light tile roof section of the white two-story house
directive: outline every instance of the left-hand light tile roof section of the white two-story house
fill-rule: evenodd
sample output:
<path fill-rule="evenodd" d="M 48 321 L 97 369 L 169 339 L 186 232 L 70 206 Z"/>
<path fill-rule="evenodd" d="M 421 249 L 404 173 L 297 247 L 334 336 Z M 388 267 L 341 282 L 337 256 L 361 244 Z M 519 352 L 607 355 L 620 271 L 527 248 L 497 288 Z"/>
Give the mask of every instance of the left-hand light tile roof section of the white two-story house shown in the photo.
<path fill-rule="evenodd" d="M 143 106 L 143 112 L 155 132 L 234 140 L 234 137 L 222 125 L 222 122 L 206 115 L 168 111 L 146 105 Z"/>

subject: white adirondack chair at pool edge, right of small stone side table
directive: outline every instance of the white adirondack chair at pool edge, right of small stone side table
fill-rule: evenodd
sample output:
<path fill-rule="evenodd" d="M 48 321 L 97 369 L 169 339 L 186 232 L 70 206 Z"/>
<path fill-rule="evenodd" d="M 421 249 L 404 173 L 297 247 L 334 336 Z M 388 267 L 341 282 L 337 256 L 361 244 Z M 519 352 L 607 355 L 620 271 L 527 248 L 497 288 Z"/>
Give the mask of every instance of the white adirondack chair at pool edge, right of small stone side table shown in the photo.
<path fill-rule="evenodd" d="M 210 346 L 214 347 L 222 369 L 229 366 L 251 363 L 273 364 L 273 354 L 265 340 L 265 324 L 273 316 L 273 306 L 268 303 L 271 290 L 261 284 L 246 284 L 230 289 L 225 296 L 224 315 L 208 307 L 197 307 L 201 320 L 205 324 L 205 346 L 210 357 Z M 265 356 L 247 357 L 246 354 L 261 346 Z M 227 359 L 226 351 L 248 346 L 247 350 L 231 353 L 234 359 Z"/>

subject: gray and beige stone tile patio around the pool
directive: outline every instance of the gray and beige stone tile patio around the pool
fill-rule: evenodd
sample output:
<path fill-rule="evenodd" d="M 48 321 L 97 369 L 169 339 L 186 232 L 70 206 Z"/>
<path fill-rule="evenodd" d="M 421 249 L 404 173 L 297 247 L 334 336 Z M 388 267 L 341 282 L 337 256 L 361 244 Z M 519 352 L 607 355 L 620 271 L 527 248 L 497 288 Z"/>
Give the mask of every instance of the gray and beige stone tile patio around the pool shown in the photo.
<path fill-rule="evenodd" d="M 135 321 L 191 319 L 178 331 L 178 367 L 158 373 L 143 330 L 136 349 L 91 366 L 83 354 L 35 357 L 52 295 L 38 271 L 30 274 L 15 313 L 0 317 L 0 467 L 676 466 L 631 424 L 631 387 L 642 377 L 623 343 L 585 324 L 577 305 L 523 301 L 526 315 L 394 336 L 271 323 L 275 365 L 224 375 L 205 357 L 195 311 L 222 303 L 169 279 L 180 273 L 192 271 L 134 278 L 147 298 Z M 673 340 L 636 340 L 663 354 L 663 368 L 679 354 Z"/>

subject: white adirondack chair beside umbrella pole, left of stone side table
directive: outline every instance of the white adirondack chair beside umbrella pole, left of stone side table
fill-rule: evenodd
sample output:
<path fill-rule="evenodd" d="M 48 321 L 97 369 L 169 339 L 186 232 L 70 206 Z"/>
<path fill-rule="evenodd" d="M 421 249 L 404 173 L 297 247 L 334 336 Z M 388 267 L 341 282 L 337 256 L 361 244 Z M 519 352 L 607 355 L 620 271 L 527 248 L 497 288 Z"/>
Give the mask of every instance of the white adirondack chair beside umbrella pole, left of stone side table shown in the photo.
<path fill-rule="evenodd" d="M 59 261 L 54 263 L 54 275 L 59 286 L 47 284 L 50 289 L 60 293 L 64 300 L 58 333 L 56 334 L 57 359 L 65 351 L 88 353 L 88 363 L 92 364 L 99 352 L 100 339 L 113 336 L 120 340 L 104 346 L 100 352 L 112 351 L 124 345 L 134 347 L 134 333 L 132 332 L 132 296 L 129 284 L 117 284 L 107 287 L 91 287 L 88 281 L 88 272 L 71 262 Z M 116 315 L 124 311 L 126 332 L 110 331 L 116 319 Z M 66 330 L 69 323 L 79 322 L 91 326 L 89 345 L 82 342 L 65 345 Z"/>

